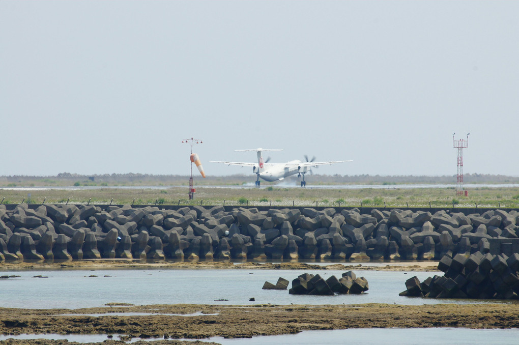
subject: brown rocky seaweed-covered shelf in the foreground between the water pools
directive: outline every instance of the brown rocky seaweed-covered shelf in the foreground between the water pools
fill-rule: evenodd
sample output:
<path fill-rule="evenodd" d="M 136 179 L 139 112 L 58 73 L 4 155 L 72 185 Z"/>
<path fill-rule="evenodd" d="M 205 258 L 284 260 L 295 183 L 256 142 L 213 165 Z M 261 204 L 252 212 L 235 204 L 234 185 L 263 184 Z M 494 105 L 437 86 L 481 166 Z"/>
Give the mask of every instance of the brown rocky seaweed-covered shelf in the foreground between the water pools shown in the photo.
<path fill-rule="evenodd" d="M 116 312 L 157 314 L 111 315 Z M 81 315 L 93 313 L 106 313 L 106 316 Z M 190 313 L 197 315 L 171 315 Z M 508 303 L 422 306 L 369 303 L 322 306 L 154 305 L 76 310 L 0 308 L 0 315 L 2 334 L 125 334 L 129 338 L 200 340 L 213 336 L 248 338 L 258 335 L 293 334 L 313 329 L 519 327 L 519 310 L 515 304 Z"/>

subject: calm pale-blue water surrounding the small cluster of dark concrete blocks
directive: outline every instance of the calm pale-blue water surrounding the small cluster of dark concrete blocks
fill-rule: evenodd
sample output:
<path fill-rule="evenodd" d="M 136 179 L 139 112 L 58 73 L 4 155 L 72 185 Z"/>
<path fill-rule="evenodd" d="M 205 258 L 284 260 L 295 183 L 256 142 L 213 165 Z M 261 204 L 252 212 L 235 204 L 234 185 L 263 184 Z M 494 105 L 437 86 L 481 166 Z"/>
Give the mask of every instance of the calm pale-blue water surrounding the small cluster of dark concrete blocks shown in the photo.
<path fill-rule="evenodd" d="M 353 270 L 365 277 L 370 289 L 362 295 L 290 295 L 286 290 L 263 290 L 265 281 L 276 284 L 279 277 L 290 282 L 302 273 L 340 278 L 335 270 L 257 269 L 114 269 L 3 271 L 19 278 L 0 280 L 0 305 L 6 308 L 88 308 L 110 302 L 152 304 L 273 305 L 395 303 L 422 305 L 488 301 L 400 297 L 405 281 L 416 275 L 420 281 L 434 272 L 387 272 Z M 48 278 L 33 278 L 42 275 Z M 89 277 L 95 275 L 96 277 Z M 289 284 L 289 287 L 291 283 Z M 255 301 L 249 299 L 254 297 Z M 220 299 L 220 300 L 218 300 Z M 221 300 L 223 299 L 223 300 Z M 492 301 L 496 302 L 496 301 Z"/>

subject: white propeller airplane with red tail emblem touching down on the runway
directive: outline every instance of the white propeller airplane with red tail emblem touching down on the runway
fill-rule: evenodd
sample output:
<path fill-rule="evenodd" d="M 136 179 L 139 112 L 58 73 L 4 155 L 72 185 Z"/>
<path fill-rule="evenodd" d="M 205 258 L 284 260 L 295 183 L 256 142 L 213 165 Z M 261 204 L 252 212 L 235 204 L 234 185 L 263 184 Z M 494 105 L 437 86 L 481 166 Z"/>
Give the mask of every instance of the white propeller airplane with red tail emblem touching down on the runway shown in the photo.
<path fill-rule="evenodd" d="M 318 167 L 318 165 L 325 164 L 334 164 L 334 163 L 343 163 L 343 162 L 351 162 L 351 160 L 335 160 L 329 162 L 314 162 L 316 159 L 313 157 L 311 160 L 308 160 L 306 157 L 306 162 L 301 160 L 291 160 L 286 163 L 268 163 L 267 161 L 263 161 L 263 151 L 282 151 L 281 149 L 264 149 L 264 148 L 256 148 L 249 150 L 235 150 L 235 151 L 256 151 L 258 161 L 257 163 L 245 163 L 245 162 L 223 162 L 223 161 L 210 161 L 212 163 L 223 163 L 228 165 L 239 165 L 240 167 L 252 167 L 252 172 L 257 175 L 256 186 L 260 187 L 260 178 L 268 182 L 281 181 L 283 178 L 297 174 L 297 177 L 303 176 L 303 180 L 301 181 L 301 187 L 306 186 L 305 174 L 311 171 L 312 167 Z"/>

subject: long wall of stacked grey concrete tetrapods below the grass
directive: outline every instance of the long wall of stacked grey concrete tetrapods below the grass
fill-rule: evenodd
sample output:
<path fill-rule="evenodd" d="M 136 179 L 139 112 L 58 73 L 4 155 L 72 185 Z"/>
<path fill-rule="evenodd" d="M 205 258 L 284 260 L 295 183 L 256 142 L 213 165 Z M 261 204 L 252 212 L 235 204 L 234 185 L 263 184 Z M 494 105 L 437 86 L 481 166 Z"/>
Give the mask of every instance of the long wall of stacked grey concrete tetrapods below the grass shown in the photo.
<path fill-rule="evenodd" d="M 516 210 L 0 205 L 0 260 L 440 260 L 519 252 Z"/>

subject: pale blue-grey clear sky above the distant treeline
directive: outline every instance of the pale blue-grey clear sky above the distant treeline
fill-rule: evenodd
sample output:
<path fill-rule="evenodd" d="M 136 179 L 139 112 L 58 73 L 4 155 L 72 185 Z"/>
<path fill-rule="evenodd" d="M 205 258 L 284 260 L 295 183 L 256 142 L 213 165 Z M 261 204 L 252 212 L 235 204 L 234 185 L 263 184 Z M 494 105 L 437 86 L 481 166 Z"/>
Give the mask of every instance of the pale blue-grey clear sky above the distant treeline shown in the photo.
<path fill-rule="evenodd" d="M 519 176 L 517 1 L 0 1 L 0 175 Z M 267 155 L 268 154 L 268 155 Z M 251 170 L 251 171 L 249 171 Z"/>

